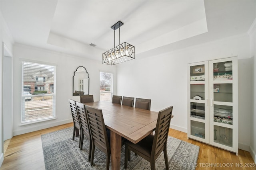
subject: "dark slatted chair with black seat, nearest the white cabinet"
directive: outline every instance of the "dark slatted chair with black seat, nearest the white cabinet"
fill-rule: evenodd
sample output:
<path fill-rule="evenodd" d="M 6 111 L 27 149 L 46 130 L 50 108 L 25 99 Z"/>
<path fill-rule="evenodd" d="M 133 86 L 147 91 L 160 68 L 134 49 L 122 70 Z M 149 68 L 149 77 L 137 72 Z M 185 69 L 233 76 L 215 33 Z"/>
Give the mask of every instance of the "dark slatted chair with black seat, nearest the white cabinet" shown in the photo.
<path fill-rule="evenodd" d="M 166 170 L 168 167 L 168 156 L 167 156 L 167 139 L 170 128 L 170 121 L 172 117 L 172 106 L 167 107 L 159 111 L 156 133 L 155 135 L 148 135 L 137 144 L 134 144 L 128 140 L 125 141 L 125 153 L 124 153 L 124 168 L 127 168 L 127 160 L 130 161 L 130 150 L 140 155 L 142 158 L 150 162 L 152 170 L 155 170 L 155 161 L 158 156 L 164 151 L 164 161 Z"/>

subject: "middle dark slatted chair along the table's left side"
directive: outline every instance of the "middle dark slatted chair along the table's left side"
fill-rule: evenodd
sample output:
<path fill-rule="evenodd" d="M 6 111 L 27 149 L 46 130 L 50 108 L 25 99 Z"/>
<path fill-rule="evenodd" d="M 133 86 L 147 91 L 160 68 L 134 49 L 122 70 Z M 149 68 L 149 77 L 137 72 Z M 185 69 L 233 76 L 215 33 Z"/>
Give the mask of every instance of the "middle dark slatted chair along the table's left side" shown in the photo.
<path fill-rule="evenodd" d="M 89 156 L 88 156 L 88 161 L 90 162 L 91 152 L 92 152 L 92 141 L 91 141 L 91 135 L 90 135 L 90 129 L 89 129 L 89 123 L 88 123 L 88 119 L 87 119 L 87 112 L 86 112 L 85 104 L 76 102 L 76 109 L 77 109 L 77 113 L 78 113 L 78 119 L 80 122 L 80 129 L 81 129 L 79 147 L 80 147 L 80 150 L 83 149 L 84 135 L 85 135 L 90 142 Z"/>

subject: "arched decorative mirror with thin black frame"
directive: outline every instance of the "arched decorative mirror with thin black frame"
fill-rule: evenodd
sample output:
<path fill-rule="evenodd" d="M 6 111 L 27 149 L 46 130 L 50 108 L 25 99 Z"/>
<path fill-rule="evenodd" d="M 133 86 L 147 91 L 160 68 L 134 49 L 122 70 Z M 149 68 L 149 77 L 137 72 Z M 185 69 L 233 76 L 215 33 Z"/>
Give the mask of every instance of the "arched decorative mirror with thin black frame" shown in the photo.
<path fill-rule="evenodd" d="M 89 94 L 90 78 L 86 68 L 79 66 L 73 76 L 73 96 Z"/>

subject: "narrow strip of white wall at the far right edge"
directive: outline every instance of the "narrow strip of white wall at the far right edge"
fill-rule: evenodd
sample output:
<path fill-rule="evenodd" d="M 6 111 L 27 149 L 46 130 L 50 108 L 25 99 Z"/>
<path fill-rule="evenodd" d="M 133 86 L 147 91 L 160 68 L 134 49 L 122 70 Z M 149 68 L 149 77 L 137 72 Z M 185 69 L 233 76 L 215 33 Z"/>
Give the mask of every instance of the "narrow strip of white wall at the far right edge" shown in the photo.
<path fill-rule="evenodd" d="M 250 35 L 250 57 L 253 65 L 252 71 L 252 115 L 251 115 L 251 145 L 250 154 L 256 163 L 256 19 L 252 23 L 248 34 Z"/>

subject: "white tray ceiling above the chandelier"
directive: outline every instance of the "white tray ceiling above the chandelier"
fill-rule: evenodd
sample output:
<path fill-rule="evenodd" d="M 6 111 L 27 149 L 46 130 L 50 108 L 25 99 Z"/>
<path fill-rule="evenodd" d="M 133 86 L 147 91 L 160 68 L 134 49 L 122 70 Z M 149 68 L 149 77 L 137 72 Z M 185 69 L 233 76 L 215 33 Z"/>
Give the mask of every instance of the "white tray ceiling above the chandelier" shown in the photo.
<path fill-rule="evenodd" d="M 138 55 L 247 32 L 255 11 L 256 0 L 1 0 L 16 43 L 98 61 L 114 47 L 119 20 L 120 43 Z"/>

